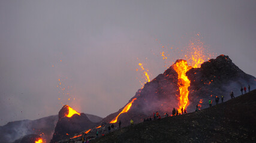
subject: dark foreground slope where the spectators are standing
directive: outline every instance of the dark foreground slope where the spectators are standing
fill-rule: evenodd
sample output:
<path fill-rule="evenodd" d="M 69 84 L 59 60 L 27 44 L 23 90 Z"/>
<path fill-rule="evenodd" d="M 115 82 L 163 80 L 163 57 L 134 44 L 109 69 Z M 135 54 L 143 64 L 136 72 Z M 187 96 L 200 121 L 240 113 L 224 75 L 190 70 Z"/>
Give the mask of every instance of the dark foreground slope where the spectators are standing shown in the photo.
<path fill-rule="evenodd" d="M 255 113 L 256 90 L 198 112 L 122 128 L 92 142 L 255 142 Z"/>

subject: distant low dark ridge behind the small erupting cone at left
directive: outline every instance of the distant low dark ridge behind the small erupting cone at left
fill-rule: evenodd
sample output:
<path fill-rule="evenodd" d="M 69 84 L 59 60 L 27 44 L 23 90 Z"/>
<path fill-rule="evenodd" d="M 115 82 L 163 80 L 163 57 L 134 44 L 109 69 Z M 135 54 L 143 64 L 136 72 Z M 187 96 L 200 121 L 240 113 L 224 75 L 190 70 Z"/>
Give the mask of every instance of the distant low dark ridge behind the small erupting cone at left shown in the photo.
<path fill-rule="evenodd" d="M 86 114 L 91 122 L 100 122 L 101 117 Z M 19 120 L 9 122 L 7 125 L 0 126 L 0 143 L 14 142 L 22 139 L 26 135 L 40 135 L 46 142 L 52 139 L 55 126 L 58 122 L 58 115 L 43 117 L 37 120 Z"/>

